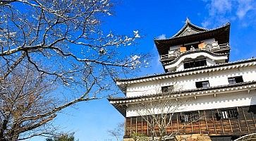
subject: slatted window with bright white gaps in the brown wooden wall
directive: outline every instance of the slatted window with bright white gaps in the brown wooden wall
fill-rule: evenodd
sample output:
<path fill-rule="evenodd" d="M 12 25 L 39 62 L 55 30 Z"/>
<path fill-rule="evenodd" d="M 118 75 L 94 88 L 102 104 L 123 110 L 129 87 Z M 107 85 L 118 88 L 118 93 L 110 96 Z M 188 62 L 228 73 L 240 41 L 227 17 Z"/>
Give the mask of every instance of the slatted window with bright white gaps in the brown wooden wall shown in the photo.
<path fill-rule="evenodd" d="M 217 113 L 217 119 L 228 119 L 228 118 L 237 118 L 238 110 L 236 108 L 233 109 L 221 109 Z"/>

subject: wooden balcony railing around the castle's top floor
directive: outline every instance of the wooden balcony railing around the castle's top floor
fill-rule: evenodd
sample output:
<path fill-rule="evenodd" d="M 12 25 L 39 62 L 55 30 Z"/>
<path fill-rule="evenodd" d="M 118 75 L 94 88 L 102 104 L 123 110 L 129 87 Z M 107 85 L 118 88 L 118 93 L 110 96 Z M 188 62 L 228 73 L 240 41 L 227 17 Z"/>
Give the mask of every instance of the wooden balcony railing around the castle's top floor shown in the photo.
<path fill-rule="evenodd" d="M 212 42 L 209 44 L 205 44 L 205 48 L 202 48 L 202 49 L 191 48 L 190 50 L 183 51 L 183 52 L 181 52 L 180 49 L 177 49 L 175 51 L 169 51 L 169 54 L 161 55 L 160 59 L 161 59 L 161 61 L 165 61 L 165 60 L 169 60 L 169 59 L 176 59 L 181 54 L 184 54 L 184 53 L 190 52 L 190 51 L 205 50 L 205 51 L 217 52 L 217 51 L 226 51 L 228 49 L 230 49 L 228 43 L 218 44 L 217 42 Z"/>

